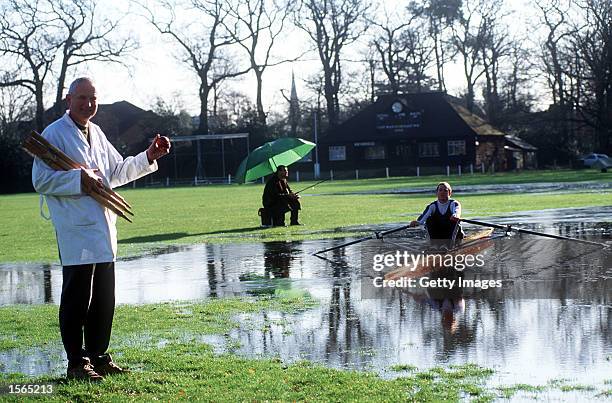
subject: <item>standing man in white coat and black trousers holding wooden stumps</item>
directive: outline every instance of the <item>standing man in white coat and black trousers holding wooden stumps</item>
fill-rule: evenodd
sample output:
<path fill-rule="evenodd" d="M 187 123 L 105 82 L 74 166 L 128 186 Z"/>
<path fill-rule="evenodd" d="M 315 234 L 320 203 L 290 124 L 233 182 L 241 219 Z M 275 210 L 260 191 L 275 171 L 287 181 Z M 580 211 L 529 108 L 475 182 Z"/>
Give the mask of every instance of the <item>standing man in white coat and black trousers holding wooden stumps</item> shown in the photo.
<path fill-rule="evenodd" d="M 89 169 L 55 171 L 36 158 L 32 183 L 47 199 L 62 264 L 59 322 L 67 376 L 100 381 L 126 372 L 107 353 L 115 310 L 117 216 L 87 193 L 103 183 L 114 188 L 155 172 L 170 140 L 158 134 L 147 150 L 123 159 L 90 122 L 98 110 L 93 81 L 76 79 L 66 101 L 69 110 L 42 135 Z"/>

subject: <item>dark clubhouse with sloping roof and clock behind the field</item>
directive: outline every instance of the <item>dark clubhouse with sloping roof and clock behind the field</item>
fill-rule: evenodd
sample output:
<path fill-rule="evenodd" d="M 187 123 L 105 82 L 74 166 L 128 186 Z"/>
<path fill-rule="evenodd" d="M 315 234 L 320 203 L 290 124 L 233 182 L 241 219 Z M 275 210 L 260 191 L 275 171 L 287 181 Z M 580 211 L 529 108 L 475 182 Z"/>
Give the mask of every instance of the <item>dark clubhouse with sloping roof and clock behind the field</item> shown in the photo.
<path fill-rule="evenodd" d="M 384 95 L 322 137 L 319 153 L 332 170 L 524 167 L 510 163 L 505 136 L 444 93 Z"/>

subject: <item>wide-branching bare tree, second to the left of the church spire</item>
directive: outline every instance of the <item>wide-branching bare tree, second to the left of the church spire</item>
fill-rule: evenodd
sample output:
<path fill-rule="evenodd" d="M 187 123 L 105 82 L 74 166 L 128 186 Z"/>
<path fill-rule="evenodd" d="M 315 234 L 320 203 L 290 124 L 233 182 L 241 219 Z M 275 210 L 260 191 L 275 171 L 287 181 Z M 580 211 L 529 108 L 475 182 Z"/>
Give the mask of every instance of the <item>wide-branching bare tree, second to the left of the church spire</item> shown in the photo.
<path fill-rule="evenodd" d="M 247 73 L 251 68 L 240 68 L 227 47 L 235 45 L 236 39 L 223 25 L 229 10 L 222 0 L 193 0 L 185 10 L 197 21 L 179 24 L 176 21 L 174 2 L 162 1 L 160 5 L 169 10 L 169 16 L 162 19 L 158 10 L 143 6 L 148 21 L 162 34 L 171 37 L 181 49 L 179 59 L 187 64 L 198 76 L 200 98 L 200 123 L 198 133 L 208 134 L 208 102 L 211 91 L 223 80 Z M 183 11 L 185 11 L 183 10 Z"/>

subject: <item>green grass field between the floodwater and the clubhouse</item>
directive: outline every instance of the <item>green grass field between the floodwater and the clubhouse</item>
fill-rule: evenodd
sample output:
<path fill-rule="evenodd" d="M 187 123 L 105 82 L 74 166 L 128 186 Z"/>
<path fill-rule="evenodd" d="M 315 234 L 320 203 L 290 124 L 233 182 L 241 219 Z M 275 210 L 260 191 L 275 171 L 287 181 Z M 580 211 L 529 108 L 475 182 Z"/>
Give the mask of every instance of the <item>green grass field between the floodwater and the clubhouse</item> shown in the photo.
<path fill-rule="evenodd" d="M 367 179 L 326 182 L 304 195 L 303 227 L 262 229 L 257 209 L 263 185 L 125 189 L 134 206 L 134 223 L 119 221 L 119 256 L 133 256 L 175 244 L 305 240 L 362 235 L 372 225 L 405 223 L 433 199 L 431 195 L 350 194 L 371 190 L 432 187 L 445 177 Z M 593 171 L 539 171 L 522 174 L 466 175 L 452 184 L 554 181 L 609 181 Z M 309 182 L 294 184 L 295 190 Z M 466 218 L 543 208 L 609 205 L 600 193 L 456 194 Z M 38 195 L 0 196 L 0 262 L 55 262 L 57 247 L 50 222 L 39 216 Z M 345 227 L 352 227 L 347 230 Z"/>

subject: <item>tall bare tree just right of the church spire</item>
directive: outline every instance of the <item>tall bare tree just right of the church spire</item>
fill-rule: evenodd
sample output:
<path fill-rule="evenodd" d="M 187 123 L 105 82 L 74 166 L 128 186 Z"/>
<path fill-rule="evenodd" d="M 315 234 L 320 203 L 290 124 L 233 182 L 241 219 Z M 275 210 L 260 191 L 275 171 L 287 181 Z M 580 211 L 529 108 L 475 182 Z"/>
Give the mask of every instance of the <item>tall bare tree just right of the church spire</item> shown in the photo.
<path fill-rule="evenodd" d="M 362 0 L 302 0 L 294 23 L 314 42 L 323 67 L 323 93 L 330 127 L 339 123 L 342 51 L 365 32 Z"/>

